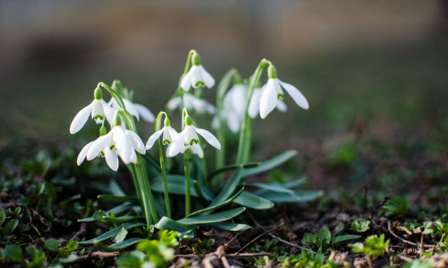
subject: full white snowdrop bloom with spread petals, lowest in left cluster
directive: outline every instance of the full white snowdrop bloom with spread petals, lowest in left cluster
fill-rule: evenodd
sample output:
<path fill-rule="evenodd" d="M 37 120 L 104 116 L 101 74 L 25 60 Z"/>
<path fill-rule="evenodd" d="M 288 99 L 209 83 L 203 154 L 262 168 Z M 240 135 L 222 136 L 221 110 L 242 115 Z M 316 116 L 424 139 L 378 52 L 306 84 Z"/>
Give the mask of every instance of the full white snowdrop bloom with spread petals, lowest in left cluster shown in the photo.
<path fill-rule="evenodd" d="M 102 126 L 104 128 L 104 126 Z M 102 131 L 100 131 L 102 132 Z M 137 163 L 137 154 L 146 154 L 146 150 L 139 135 L 134 131 L 127 130 L 121 124 L 121 119 L 116 114 L 113 119 L 112 129 L 109 133 L 98 137 L 97 140 L 89 142 L 80 151 L 77 163 L 80 165 L 86 158 L 91 161 L 97 156 L 104 156 L 109 168 L 113 171 L 118 170 L 118 156 L 120 156 L 123 163 Z"/>

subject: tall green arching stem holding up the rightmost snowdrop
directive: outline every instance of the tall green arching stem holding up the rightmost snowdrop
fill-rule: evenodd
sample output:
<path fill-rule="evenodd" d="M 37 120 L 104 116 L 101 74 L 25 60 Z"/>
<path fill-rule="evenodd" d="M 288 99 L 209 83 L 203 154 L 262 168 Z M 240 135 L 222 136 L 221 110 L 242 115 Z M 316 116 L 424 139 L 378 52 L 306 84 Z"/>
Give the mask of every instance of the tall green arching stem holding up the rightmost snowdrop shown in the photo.
<path fill-rule="evenodd" d="M 249 103 L 251 102 L 253 89 L 255 88 L 255 84 L 257 84 L 258 80 L 260 80 L 260 76 L 262 74 L 263 69 L 266 67 L 267 59 L 262 59 L 258 67 L 253 72 L 253 75 L 250 79 L 248 85 L 248 94 L 246 101 L 246 109 L 244 110 L 244 119 L 241 122 L 241 129 L 239 131 L 239 142 L 238 142 L 238 153 L 237 153 L 237 164 L 247 163 L 250 152 L 251 152 L 251 117 L 248 115 Z"/>

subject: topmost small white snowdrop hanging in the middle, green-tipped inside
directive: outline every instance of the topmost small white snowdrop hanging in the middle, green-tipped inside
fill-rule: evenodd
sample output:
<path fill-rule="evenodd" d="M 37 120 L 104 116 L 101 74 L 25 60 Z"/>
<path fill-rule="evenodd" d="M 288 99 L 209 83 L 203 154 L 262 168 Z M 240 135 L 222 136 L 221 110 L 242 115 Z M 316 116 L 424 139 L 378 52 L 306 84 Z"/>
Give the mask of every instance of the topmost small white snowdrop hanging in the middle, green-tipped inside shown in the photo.
<path fill-rule="evenodd" d="M 191 68 L 188 73 L 183 76 L 181 80 L 181 88 L 185 91 L 189 91 L 190 87 L 195 89 L 199 87 L 211 88 L 215 84 L 215 80 L 207 70 L 201 65 L 201 57 L 197 53 L 193 53 L 191 57 Z"/>

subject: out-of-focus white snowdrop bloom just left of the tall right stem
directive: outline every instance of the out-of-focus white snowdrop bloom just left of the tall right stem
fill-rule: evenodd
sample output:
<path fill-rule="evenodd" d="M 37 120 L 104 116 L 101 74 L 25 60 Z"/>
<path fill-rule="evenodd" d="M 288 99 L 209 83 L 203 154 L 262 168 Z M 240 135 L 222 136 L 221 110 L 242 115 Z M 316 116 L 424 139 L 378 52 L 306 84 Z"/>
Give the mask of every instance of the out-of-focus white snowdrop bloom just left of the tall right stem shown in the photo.
<path fill-rule="evenodd" d="M 235 84 L 224 96 L 221 118 L 227 121 L 230 131 L 237 133 L 244 119 L 246 109 L 247 87 L 245 84 Z M 218 127 L 218 117 L 215 117 L 212 126 Z"/>

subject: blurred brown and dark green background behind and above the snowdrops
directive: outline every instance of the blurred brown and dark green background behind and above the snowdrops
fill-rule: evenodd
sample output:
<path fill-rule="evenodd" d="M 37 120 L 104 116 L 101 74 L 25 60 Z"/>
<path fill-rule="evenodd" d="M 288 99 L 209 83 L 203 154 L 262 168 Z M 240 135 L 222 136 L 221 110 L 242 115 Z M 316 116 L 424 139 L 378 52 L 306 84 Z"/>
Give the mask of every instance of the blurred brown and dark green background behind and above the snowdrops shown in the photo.
<path fill-rule="evenodd" d="M 318 157 L 361 135 L 392 142 L 410 135 L 417 143 L 432 141 L 431 152 L 448 149 L 448 4 L 442 0 L 3 0 L 1 143 L 25 136 L 85 144 L 96 126 L 69 135 L 69 124 L 99 81 L 121 80 L 136 103 L 157 114 L 190 49 L 217 83 L 232 67 L 248 77 L 265 57 L 281 80 L 307 96 L 308 111 L 286 96 L 286 114 L 255 120 L 261 154 L 293 148 Z M 215 90 L 205 91 L 212 103 Z M 201 126 L 209 128 L 210 119 Z M 153 125 L 139 129 L 146 140 Z"/>

